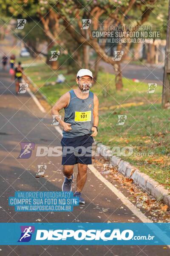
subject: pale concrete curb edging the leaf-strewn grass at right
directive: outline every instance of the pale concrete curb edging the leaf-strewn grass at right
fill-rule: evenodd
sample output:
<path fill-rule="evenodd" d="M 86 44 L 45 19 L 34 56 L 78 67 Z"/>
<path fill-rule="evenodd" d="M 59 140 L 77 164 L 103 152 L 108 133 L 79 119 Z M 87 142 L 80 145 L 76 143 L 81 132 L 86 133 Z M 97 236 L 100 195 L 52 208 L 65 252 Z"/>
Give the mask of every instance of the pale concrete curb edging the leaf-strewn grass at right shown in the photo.
<path fill-rule="evenodd" d="M 170 192 L 165 189 L 164 186 L 160 185 L 143 172 L 140 172 L 139 169 L 132 166 L 130 163 L 125 162 L 119 157 L 111 156 L 109 147 L 97 142 L 95 142 L 95 145 L 97 147 L 97 153 L 104 157 L 105 160 L 109 160 L 114 167 L 117 167 L 118 172 L 133 179 L 133 182 L 139 185 L 144 191 L 152 195 L 158 201 L 164 201 L 164 203 L 170 207 Z"/>

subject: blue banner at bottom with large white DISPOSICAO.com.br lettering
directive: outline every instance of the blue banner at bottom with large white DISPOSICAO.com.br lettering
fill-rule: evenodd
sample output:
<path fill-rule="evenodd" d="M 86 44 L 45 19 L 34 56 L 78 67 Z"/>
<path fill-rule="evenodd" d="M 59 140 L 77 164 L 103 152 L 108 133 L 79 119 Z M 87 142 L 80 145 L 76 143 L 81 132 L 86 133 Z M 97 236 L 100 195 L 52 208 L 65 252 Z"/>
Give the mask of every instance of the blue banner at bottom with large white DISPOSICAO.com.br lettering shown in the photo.
<path fill-rule="evenodd" d="M 169 245 L 170 223 L 0 223 L 0 245 Z"/>

